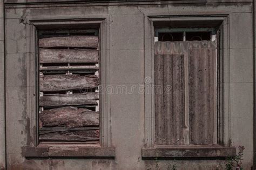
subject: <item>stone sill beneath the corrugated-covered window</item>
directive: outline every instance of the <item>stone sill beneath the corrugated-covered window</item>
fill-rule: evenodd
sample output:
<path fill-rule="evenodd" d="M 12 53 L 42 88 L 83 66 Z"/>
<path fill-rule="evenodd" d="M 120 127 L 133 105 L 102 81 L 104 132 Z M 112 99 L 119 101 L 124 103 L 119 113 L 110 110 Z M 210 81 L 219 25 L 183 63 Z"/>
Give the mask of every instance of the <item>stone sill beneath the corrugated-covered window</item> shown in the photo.
<path fill-rule="evenodd" d="M 235 147 L 212 146 L 156 146 L 142 148 L 143 158 L 215 158 L 234 157 Z"/>

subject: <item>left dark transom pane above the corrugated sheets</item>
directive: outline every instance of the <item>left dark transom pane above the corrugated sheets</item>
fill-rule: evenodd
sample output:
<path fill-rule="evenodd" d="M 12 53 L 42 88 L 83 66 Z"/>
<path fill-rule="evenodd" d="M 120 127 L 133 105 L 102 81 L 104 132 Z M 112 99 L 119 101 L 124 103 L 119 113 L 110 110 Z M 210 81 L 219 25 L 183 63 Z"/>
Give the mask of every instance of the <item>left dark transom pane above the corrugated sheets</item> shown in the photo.
<path fill-rule="evenodd" d="M 183 32 L 159 32 L 159 42 L 182 42 Z"/>

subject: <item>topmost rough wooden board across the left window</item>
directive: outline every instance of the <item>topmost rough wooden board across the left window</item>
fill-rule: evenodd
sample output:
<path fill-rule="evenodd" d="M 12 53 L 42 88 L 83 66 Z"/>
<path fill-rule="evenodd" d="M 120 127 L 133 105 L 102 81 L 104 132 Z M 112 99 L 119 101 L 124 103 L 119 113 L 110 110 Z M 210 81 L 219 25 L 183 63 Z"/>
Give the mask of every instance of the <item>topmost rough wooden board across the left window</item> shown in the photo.
<path fill-rule="evenodd" d="M 98 47 L 97 36 L 70 36 L 70 37 L 51 37 L 39 39 L 39 47 Z"/>

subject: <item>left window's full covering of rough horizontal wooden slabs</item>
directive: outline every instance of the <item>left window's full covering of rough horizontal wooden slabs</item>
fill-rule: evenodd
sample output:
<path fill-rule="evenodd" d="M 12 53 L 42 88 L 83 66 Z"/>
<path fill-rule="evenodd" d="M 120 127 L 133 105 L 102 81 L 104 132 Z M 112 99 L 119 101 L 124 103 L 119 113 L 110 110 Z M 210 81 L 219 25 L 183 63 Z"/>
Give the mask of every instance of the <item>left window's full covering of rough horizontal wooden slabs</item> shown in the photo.
<path fill-rule="evenodd" d="M 39 142 L 99 142 L 97 31 L 39 32 Z"/>

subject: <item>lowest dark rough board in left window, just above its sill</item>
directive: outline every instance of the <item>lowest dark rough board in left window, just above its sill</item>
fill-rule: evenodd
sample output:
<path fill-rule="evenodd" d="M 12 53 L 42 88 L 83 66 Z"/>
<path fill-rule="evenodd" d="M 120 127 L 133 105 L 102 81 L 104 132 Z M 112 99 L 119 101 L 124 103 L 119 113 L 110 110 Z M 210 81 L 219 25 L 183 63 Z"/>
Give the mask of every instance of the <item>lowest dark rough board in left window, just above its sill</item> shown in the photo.
<path fill-rule="evenodd" d="M 39 135 L 40 141 L 99 141 L 99 130 L 60 131 Z"/>

